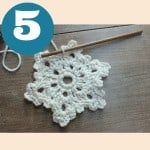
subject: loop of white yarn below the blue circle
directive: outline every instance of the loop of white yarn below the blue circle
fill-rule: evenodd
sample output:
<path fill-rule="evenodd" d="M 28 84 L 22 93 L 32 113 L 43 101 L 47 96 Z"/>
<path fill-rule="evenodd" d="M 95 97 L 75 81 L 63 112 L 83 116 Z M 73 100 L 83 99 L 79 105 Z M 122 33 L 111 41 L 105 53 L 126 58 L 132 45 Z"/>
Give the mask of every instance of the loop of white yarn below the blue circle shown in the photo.
<path fill-rule="evenodd" d="M 15 68 L 9 68 L 9 67 L 6 65 L 6 57 L 7 57 L 7 54 L 8 54 L 8 53 L 12 53 L 13 55 L 16 55 L 16 57 L 17 57 L 17 59 L 18 59 L 18 64 L 17 64 L 17 66 L 16 66 Z M 16 53 L 15 51 L 10 50 L 10 49 L 8 48 L 8 46 L 6 45 L 6 46 L 5 46 L 5 49 L 0 51 L 0 54 L 3 55 L 3 57 L 2 57 L 2 65 L 3 65 L 3 67 L 5 68 L 5 70 L 7 70 L 7 71 L 9 71 L 9 72 L 15 72 L 15 71 L 17 71 L 17 70 L 20 68 L 20 66 L 21 66 L 21 56 L 20 56 L 19 53 Z"/>

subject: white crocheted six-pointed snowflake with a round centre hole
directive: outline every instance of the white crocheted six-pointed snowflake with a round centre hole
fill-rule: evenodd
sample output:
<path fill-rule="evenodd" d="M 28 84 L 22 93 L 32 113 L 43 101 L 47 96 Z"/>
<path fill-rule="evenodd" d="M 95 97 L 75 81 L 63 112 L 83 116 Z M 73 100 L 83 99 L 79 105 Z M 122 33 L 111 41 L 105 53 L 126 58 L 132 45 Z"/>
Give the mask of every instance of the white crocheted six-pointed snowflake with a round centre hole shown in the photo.
<path fill-rule="evenodd" d="M 71 40 L 63 50 L 77 45 Z M 83 55 L 82 50 L 71 54 L 41 58 L 35 55 L 35 81 L 29 83 L 24 97 L 36 106 L 51 108 L 53 121 L 61 127 L 81 113 L 85 108 L 92 111 L 106 105 L 102 90 L 103 77 L 107 77 L 108 63 Z"/>

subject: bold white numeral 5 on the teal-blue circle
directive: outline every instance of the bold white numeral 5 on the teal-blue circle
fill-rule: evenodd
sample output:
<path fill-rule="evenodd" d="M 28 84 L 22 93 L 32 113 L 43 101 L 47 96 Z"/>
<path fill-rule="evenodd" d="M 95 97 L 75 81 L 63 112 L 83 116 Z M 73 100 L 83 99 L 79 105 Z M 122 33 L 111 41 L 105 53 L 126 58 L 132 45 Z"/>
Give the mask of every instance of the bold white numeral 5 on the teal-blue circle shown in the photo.
<path fill-rule="evenodd" d="M 37 39 L 41 33 L 40 25 L 30 19 L 37 17 L 39 14 L 39 10 L 35 11 L 15 11 L 15 29 L 14 36 L 23 41 L 30 41 Z M 29 27 L 29 33 L 23 34 L 23 27 Z"/>

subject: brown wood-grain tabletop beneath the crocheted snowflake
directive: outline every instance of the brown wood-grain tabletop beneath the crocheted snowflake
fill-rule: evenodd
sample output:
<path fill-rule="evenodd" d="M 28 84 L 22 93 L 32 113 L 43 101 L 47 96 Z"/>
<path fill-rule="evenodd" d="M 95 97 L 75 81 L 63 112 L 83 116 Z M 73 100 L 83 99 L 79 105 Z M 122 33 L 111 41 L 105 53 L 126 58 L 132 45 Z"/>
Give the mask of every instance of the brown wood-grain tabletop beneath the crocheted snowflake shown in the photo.
<path fill-rule="evenodd" d="M 142 36 L 85 52 L 112 66 L 104 81 L 107 106 L 96 112 L 85 110 L 66 128 L 53 123 L 50 110 L 24 99 L 26 85 L 32 81 L 33 57 L 22 57 L 22 67 L 15 73 L 0 64 L 0 132 L 150 132 L 149 25 L 56 25 L 54 41 L 58 46 L 70 39 L 82 44 L 137 29 L 144 30 Z M 8 65 L 13 66 L 16 60 L 11 58 Z"/>

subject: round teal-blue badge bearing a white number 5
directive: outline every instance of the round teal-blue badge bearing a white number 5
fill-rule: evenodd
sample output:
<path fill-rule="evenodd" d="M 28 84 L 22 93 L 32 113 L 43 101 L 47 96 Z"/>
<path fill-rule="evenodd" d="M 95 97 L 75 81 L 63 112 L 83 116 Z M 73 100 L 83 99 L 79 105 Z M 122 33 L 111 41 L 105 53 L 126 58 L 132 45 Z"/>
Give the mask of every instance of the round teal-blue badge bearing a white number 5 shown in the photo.
<path fill-rule="evenodd" d="M 34 3 L 14 6 L 2 21 L 5 43 L 22 55 L 34 55 L 46 49 L 53 33 L 54 24 L 50 14 Z"/>

